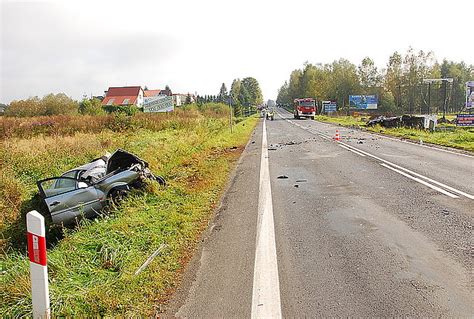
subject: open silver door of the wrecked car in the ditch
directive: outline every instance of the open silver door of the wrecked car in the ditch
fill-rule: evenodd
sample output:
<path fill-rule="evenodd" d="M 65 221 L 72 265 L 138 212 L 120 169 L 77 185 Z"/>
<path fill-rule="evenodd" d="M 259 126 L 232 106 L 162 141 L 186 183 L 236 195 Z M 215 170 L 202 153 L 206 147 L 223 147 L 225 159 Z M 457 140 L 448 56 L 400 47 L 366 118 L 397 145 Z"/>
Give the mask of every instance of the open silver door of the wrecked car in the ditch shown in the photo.
<path fill-rule="evenodd" d="M 76 217 L 91 217 L 102 209 L 103 194 L 72 177 L 48 178 L 39 181 L 38 188 L 55 224 L 70 224 Z"/>

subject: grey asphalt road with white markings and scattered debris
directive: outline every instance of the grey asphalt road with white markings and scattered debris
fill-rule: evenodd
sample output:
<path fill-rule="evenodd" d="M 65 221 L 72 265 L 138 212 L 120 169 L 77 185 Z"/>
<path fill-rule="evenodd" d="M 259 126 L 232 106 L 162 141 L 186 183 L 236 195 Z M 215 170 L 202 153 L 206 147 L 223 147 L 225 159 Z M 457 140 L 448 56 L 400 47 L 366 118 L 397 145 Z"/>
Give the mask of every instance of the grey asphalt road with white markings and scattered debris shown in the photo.
<path fill-rule="evenodd" d="M 472 317 L 473 177 L 472 156 L 279 110 L 162 316 Z"/>

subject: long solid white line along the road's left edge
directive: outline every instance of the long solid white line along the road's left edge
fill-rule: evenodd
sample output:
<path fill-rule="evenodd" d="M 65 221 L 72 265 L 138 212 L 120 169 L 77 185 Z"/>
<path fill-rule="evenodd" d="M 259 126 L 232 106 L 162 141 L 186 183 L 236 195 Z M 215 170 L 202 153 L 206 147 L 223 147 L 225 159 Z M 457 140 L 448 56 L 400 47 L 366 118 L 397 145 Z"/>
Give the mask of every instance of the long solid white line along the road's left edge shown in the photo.
<path fill-rule="evenodd" d="M 275 244 L 267 130 L 263 121 L 258 195 L 257 240 L 253 272 L 252 318 L 281 318 L 280 281 Z"/>

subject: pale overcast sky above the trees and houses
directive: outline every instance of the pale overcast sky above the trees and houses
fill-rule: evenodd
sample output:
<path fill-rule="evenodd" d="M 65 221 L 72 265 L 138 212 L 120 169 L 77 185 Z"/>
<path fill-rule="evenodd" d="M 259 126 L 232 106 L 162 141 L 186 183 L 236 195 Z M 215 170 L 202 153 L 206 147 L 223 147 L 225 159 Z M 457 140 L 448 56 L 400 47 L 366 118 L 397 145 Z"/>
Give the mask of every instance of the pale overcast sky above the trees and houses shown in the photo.
<path fill-rule="evenodd" d="M 123 85 L 217 94 L 246 76 L 274 99 L 305 61 L 383 67 L 409 46 L 474 64 L 472 0 L 0 2 L 3 103 Z"/>

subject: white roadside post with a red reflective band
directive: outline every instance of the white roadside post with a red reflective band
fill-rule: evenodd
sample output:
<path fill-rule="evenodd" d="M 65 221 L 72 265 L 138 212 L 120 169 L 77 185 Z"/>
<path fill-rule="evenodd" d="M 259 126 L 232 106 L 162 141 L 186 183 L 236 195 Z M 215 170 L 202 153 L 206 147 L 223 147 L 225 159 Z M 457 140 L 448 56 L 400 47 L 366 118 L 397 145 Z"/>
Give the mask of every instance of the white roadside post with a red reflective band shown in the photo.
<path fill-rule="evenodd" d="M 29 212 L 26 214 L 26 228 L 28 231 L 33 318 L 50 318 L 44 217 L 36 210 Z"/>

